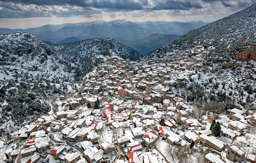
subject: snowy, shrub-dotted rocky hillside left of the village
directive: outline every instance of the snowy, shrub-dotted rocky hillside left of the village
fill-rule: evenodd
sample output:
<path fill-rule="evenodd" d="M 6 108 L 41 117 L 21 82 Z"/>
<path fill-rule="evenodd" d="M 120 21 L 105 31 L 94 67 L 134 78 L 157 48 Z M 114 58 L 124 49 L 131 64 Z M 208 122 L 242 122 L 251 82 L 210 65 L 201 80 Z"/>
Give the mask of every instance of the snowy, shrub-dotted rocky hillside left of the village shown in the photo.
<path fill-rule="evenodd" d="M 0 35 L 0 64 L 0 128 L 48 112 L 54 107 L 49 100 L 81 75 L 74 63 L 23 32 Z"/>

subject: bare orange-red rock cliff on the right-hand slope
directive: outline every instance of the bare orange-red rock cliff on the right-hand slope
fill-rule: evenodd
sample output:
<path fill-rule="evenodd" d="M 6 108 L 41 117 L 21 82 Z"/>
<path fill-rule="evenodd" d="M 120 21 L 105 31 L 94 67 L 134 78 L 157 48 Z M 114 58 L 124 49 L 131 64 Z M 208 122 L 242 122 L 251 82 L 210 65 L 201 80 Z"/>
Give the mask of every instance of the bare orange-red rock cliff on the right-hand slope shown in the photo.
<path fill-rule="evenodd" d="M 236 60 L 246 61 L 248 59 L 252 59 L 256 61 L 256 45 L 252 45 L 251 47 L 245 49 L 244 51 L 236 54 Z"/>

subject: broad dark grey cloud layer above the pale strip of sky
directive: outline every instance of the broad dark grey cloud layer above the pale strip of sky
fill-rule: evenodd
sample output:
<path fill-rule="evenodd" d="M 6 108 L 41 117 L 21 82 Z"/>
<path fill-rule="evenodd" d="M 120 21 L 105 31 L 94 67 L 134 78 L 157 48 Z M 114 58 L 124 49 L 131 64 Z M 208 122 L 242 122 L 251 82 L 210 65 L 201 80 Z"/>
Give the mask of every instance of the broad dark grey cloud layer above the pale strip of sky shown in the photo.
<path fill-rule="evenodd" d="M 163 13 L 158 12 L 161 10 L 169 10 L 170 13 L 167 15 L 177 16 L 181 15 L 182 11 L 196 13 L 195 11 L 202 12 L 204 9 L 209 14 L 217 13 L 221 12 L 220 7 L 233 7 L 230 11 L 238 11 L 254 3 L 256 0 L 0 0 L 0 18 L 51 16 L 90 18 L 100 17 L 103 13 L 108 13 L 109 17 L 114 18 L 115 13 L 120 11 L 136 11 L 131 15 L 141 17 L 147 15 L 145 14 L 147 12 L 161 15 Z"/>

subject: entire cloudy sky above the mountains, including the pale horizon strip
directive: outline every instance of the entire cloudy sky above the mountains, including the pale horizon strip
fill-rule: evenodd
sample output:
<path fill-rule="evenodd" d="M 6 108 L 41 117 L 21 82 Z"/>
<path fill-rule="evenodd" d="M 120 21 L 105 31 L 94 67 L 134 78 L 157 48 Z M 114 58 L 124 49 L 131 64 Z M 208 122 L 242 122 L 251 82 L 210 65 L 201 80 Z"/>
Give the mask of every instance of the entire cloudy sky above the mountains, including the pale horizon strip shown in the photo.
<path fill-rule="evenodd" d="M 45 24 L 94 20 L 217 20 L 256 0 L 0 0 L 0 27 L 29 28 Z"/>

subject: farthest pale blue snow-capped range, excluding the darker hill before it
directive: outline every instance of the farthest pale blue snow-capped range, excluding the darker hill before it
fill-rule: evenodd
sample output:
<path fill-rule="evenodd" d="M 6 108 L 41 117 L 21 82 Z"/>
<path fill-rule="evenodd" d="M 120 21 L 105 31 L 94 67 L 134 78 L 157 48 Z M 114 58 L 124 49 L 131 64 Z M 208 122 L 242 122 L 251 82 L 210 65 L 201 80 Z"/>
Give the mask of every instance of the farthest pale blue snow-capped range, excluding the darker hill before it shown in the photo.
<path fill-rule="evenodd" d="M 181 33 L 184 34 L 184 31 L 189 32 L 199 27 L 202 27 L 202 25 L 178 21 L 132 22 L 121 19 L 71 24 L 56 31 L 38 32 L 36 36 L 41 40 L 52 43 L 72 36 L 81 40 L 99 37 L 113 38 L 120 43 L 128 45 L 127 42 L 136 42 L 153 33 L 180 35 Z"/>

